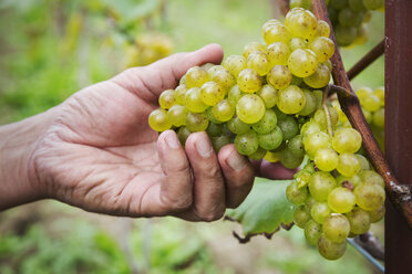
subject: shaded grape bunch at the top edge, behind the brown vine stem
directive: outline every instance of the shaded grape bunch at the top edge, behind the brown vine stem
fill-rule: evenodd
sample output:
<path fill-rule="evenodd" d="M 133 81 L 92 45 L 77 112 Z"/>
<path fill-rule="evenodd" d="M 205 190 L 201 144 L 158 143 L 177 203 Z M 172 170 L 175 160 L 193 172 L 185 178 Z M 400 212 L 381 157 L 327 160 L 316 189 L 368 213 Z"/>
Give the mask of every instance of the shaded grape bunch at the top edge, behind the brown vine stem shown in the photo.
<path fill-rule="evenodd" d="M 368 41 L 368 25 L 373 10 L 382 10 L 384 0 L 327 0 L 338 44 L 359 45 Z M 311 9 L 310 0 L 290 0 L 290 8 Z"/>

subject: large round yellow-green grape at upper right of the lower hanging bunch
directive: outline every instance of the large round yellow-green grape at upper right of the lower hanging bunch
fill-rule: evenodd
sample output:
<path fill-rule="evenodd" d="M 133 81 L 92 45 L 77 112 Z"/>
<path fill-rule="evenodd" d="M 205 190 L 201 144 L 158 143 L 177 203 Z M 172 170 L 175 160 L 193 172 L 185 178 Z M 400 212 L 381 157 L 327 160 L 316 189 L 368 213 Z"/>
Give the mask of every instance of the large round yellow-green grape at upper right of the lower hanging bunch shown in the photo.
<path fill-rule="evenodd" d="M 339 154 L 354 154 L 362 145 L 362 137 L 353 128 L 337 130 L 332 138 L 332 147 Z"/>

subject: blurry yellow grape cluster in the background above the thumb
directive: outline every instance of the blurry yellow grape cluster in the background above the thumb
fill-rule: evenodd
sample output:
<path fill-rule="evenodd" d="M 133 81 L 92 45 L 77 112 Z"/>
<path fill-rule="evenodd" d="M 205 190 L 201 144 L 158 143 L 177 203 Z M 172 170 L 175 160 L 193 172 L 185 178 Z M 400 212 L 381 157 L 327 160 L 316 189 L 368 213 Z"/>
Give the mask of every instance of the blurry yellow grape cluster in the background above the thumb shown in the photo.
<path fill-rule="evenodd" d="M 159 32 L 143 33 L 127 49 L 126 66 L 148 65 L 172 52 L 173 42 L 168 35 Z"/>

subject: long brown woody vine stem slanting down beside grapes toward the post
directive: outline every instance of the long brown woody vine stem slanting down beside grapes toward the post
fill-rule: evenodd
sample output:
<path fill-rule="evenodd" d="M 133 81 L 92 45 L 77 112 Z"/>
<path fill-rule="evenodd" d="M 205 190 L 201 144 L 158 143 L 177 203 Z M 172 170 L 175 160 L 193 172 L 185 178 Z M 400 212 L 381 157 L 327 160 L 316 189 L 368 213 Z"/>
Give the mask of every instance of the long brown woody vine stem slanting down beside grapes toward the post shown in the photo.
<path fill-rule="evenodd" d="M 315 15 L 331 27 L 328 14 L 328 8 L 325 0 L 311 0 Z M 334 84 L 344 88 L 334 88 L 338 94 L 339 103 L 342 110 L 347 115 L 350 124 L 361 134 L 363 148 L 365 149 L 374 169 L 382 176 L 385 182 L 385 190 L 389 200 L 394 204 L 399 212 L 404 217 L 409 228 L 412 230 L 412 196 L 411 189 L 406 185 L 400 185 L 396 177 L 393 175 L 388 162 L 384 160 L 382 150 L 380 149 L 373 134 L 363 116 L 359 99 L 354 94 L 348 75 L 344 71 L 342 57 L 340 55 L 338 43 L 334 38 L 333 29 L 330 28 L 330 38 L 334 42 L 336 51 L 331 57 L 333 65 L 332 76 Z"/>

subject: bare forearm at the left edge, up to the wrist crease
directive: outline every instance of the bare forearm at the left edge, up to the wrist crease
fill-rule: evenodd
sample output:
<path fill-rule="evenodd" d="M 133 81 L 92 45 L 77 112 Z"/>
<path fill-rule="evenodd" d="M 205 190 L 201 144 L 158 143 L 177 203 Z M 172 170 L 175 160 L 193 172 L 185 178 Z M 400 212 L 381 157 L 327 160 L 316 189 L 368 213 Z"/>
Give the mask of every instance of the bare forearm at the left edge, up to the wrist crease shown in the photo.
<path fill-rule="evenodd" d="M 54 109 L 0 127 L 0 210 L 42 198 L 32 155 Z"/>

